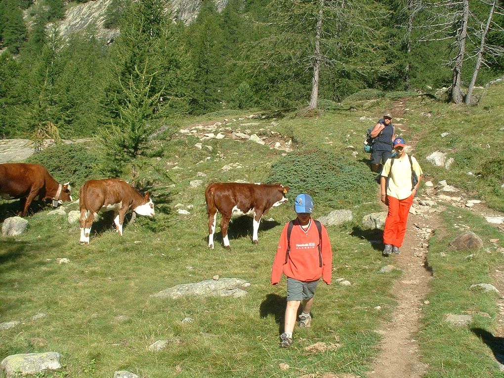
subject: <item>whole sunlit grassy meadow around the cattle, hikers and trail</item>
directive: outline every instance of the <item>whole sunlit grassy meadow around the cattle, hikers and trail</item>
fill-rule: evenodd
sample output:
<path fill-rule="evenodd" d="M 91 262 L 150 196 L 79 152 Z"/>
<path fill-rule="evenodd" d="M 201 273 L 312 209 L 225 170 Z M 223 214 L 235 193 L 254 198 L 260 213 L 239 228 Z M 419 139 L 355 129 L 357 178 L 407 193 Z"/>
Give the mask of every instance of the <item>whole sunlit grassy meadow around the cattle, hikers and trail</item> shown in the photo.
<path fill-rule="evenodd" d="M 402 99 L 405 110 L 400 121 L 402 136 L 407 142 L 416 141 L 414 155 L 426 179 L 446 179 L 468 191 L 471 198 L 482 199 L 500 211 L 504 211 L 500 187 L 503 89 L 495 85 L 481 91 L 480 104 L 471 107 L 409 95 Z M 297 377 L 324 372 L 367 376 L 379 351 L 381 336 L 376 330 L 394 309 L 394 293 L 389 290 L 401 272 L 379 273 L 391 264 L 382 258 L 381 245 L 371 243 L 379 240 L 381 233 L 361 225 L 363 215 L 381 209 L 374 174 L 367 166 L 369 155 L 363 153 L 362 144 L 366 130 L 384 112 L 393 112 L 397 103 L 392 97 L 355 100 L 352 107 L 329 109 L 319 116 L 289 113 L 229 121 L 226 126 L 260 136 L 278 132 L 285 141 L 292 140 L 294 151 L 287 154 L 229 138 L 203 141 L 202 149 L 195 147 L 200 142 L 195 136 L 176 133 L 171 140 L 155 139 L 152 153 L 139 167 L 156 215 L 152 219 L 138 217 L 134 224 L 125 225 L 122 237 L 104 216 L 94 224 L 90 245 L 81 246 L 79 225 L 69 224 L 66 216 L 47 215 L 49 209 L 29 216 L 25 233 L 0 238 L 0 323 L 22 322 L 0 331 L 0 359 L 16 353 L 60 352 L 64 368 L 41 374 L 48 377 L 112 377 L 116 370 L 142 377 Z M 182 118 L 178 124 L 185 129 L 191 124 L 223 122 L 243 115 L 213 113 Z M 259 124 L 240 126 L 247 122 Z M 450 135 L 440 137 L 444 132 Z M 347 146 L 359 152 L 356 158 Z M 98 155 L 92 144 L 88 147 Z M 449 171 L 425 160 L 436 150 L 454 157 Z M 222 170 L 224 165 L 232 169 Z M 468 171 L 474 176 L 468 176 Z M 198 176 L 198 172 L 207 176 Z M 91 177 L 101 178 L 95 171 L 87 173 L 86 178 Z M 203 185 L 191 187 L 189 183 L 195 179 L 202 179 Z M 290 202 L 266 214 L 264 219 L 273 220 L 262 222 L 258 245 L 251 243 L 251 220 L 243 217 L 229 226 L 231 251 L 223 247 L 220 232 L 215 249 L 209 250 L 205 187 L 210 182 L 237 179 L 278 179 L 291 186 Z M 354 221 L 328 227 L 334 255 L 333 284 L 319 285 L 312 327 L 296 328 L 292 348 L 281 350 L 278 336 L 283 326 L 286 283 L 284 278 L 271 286 L 270 273 L 282 225 L 294 217 L 292 199 L 301 191 L 313 194 L 315 217 L 333 209 L 350 209 Z M 78 196 L 78 187 L 73 195 Z M 191 214 L 178 214 L 178 204 Z M 3 201 L 2 219 L 16 206 L 17 202 Z M 67 210 L 78 210 L 78 204 L 67 205 Z M 421 358 L 429 365 L 427 376 L 504 377 L 475 332 L 443 323 L 446 313 L 470 307 L 491 316 L 476 317 L 474 327 L 493 332 L 497 297 L 476 295 L 467 287 L 474 280 L 489 282 L 492 269 L 503 268 L 502 256 L 494 249 L 480 251 L 468 269 L 463 256 L 469 253 L 441 254 L 460 233 L 452 226 L 455 223 L 465 223 L 480 233 L 485 247 L 491 237 L 500 237 L 500 246 L 504 246 L 504 238 L 471 212 L 454 208 L 443 217 L 446 227 L 435 231 L 429 244 L 427 259 L 435 279 L 419 334 Z M 56 259 L 61 258 L 70 262 L 58 264 Z M 214 275 L 250 282 L 246 297 L 151 297 L 168 287 Z M 340 286 L 337 278 L 349 280 L 351 286 Z M 32 319 L 39 312 L 46 316 Z M 193 322 L 182 322 L 185 318 Z M 150 351 L 149 345 L 156 340 L 171 342 L 161 351 Z M 341 347 L 318 354 L 304 350 L 317 342 Z M 290 368 L 281 370 L 280 363 Z"/>

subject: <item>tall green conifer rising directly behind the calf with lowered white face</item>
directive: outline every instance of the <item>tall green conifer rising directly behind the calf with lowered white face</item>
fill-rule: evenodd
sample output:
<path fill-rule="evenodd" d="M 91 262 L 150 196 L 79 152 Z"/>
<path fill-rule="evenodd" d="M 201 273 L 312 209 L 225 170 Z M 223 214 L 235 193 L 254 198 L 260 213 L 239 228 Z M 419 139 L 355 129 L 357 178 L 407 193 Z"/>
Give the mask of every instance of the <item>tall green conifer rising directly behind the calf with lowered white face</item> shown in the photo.
<path fill-rule="evenodd" d="M 100 132 L 107 175 L 137 178 L 137 159 L 160 120 L 186 109 L 187 59 L 164 3 L 132 3 L 110 50 Z"/>

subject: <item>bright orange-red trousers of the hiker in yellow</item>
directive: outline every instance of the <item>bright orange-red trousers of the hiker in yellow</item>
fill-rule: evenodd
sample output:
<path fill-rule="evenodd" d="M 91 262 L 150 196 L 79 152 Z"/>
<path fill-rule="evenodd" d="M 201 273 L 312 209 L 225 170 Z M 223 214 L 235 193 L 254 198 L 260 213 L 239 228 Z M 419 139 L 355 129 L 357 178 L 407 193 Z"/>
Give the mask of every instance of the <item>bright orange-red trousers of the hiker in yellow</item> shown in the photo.
<path fill-rule="evenodd" d="M 413 204 L 413 195 L 404 200 L 387 196 L 387 200 L 389 201 L 389 213 L 385 220 L 383 243 L 401 247 L 403 245 L 404 234 L 406 233 L 409 209 Z"/>

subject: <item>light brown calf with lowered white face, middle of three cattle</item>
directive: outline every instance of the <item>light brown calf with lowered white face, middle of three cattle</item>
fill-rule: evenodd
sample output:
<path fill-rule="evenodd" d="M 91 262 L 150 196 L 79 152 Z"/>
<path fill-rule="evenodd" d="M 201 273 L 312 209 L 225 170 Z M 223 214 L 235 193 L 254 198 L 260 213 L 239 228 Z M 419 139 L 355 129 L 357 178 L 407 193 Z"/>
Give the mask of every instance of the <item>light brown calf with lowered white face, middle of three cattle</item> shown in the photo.
<path fill-rule="evenodd" d="M 128 182 L 118 178 L 89 180 L 81 186 L 81 244 L 89 244 L 91 226 L 99 211 L 113 210 L 115 229 L 122 236 L 124 215 L 130 210 L 138 215 L 154 216 L 154 204 L 146 193 L 142 196 Z"/>

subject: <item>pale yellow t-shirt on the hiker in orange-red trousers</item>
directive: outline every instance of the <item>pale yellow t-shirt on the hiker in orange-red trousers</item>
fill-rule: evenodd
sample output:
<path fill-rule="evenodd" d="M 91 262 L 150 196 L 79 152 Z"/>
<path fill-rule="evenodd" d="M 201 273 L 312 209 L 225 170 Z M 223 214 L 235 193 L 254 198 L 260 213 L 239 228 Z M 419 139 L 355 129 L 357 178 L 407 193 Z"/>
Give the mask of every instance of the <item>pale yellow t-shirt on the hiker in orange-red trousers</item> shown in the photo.
<path fill-rule="evenodd" d="M 388 177 L 392 159 L 388 159 L 382 169 L 382 176 Z M 423 174 L 422 168 L 418 161 L 412 156 L 411 162 L 413 163 L 413 170 L 417 177 Z M 389 187 L 387 188 L 387 195 L 404 200 L 413 193 L 411 186 L 411 166 L 409 163 L 408 155 L 405 153 L 401 158 L 394 158 L 394 165 L 392 166 L 392 174 L 390 175 Z"/>

